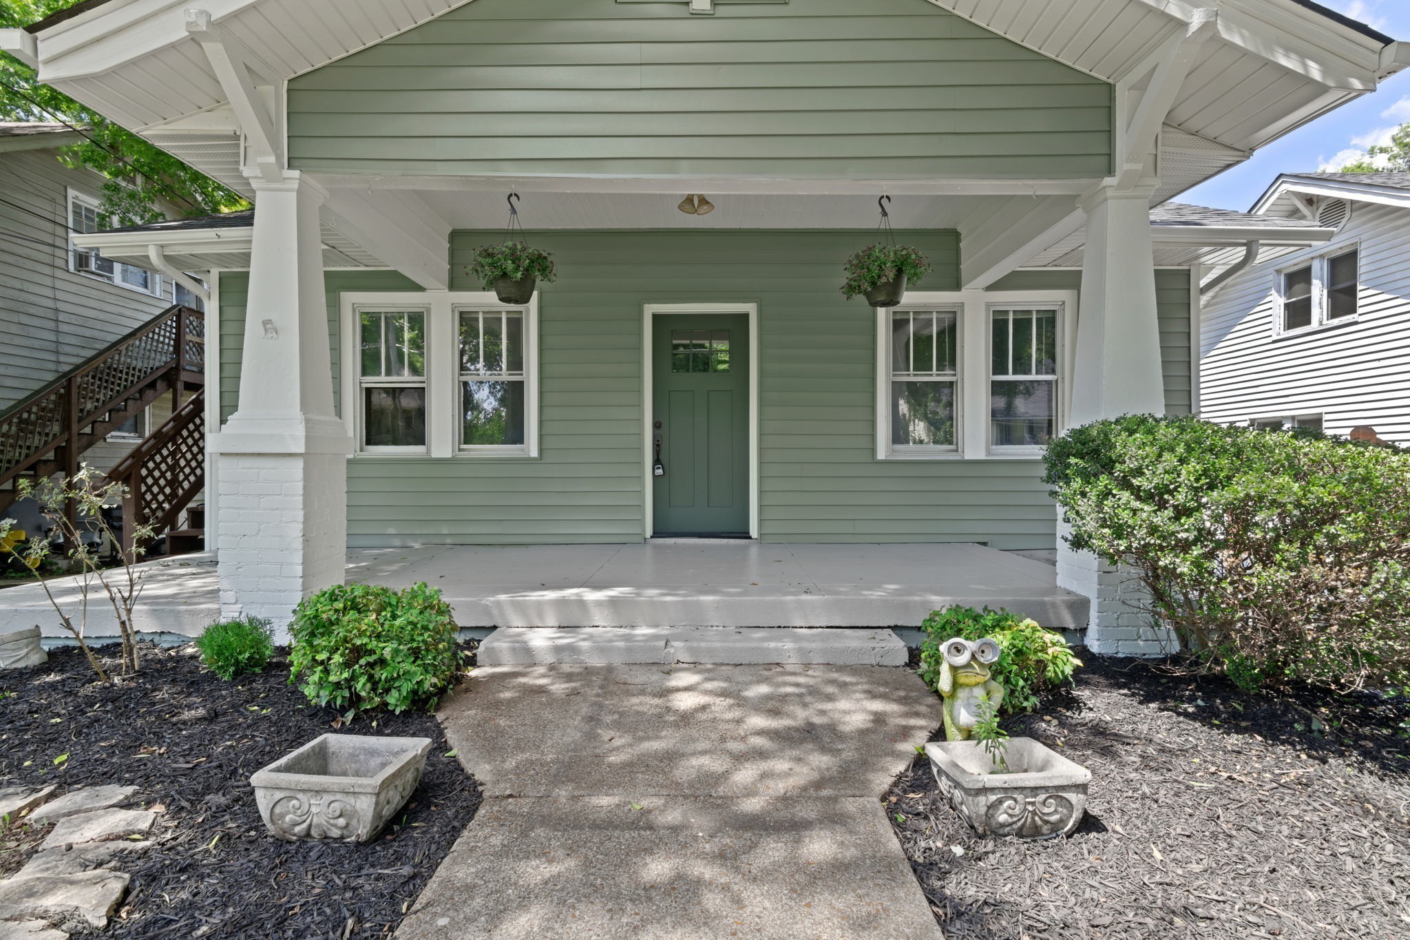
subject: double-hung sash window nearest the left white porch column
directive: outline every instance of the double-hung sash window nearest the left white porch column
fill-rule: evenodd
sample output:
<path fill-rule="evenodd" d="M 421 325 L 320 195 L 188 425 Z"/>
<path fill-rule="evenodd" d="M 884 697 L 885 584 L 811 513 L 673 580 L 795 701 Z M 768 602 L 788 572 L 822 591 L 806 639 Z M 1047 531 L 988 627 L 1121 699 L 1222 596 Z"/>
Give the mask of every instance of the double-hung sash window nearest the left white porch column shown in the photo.
<path fill-rule="evenodd" d="M 426 451 L 426 311 L 358 310 L 361 445 Z"/>

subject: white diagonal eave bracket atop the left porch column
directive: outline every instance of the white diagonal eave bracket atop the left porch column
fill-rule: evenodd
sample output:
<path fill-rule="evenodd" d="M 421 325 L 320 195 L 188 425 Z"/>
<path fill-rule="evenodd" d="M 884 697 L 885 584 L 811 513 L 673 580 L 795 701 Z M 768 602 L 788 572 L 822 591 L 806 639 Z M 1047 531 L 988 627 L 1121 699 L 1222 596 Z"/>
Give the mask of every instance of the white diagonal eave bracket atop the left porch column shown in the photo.
<path fill-rule="evenodd" d="M 200 44 L 245 135 L 247 161 L 266 182 L 283 179 L 283 137 L 255 87 L 255 76 L 279 87 L 279 72 L 212 21 L 207 10 L 186 10 L 186 32 Z"/>

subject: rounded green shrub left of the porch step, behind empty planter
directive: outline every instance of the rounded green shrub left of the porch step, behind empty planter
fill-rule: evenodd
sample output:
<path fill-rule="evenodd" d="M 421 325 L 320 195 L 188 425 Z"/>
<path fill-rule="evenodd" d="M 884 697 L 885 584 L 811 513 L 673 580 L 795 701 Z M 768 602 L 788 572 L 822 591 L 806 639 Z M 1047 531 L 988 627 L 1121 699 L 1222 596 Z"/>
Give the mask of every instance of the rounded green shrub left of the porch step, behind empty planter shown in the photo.
<path fill-rule="evenodd" d="M 348 712 L 434 709 L 455 682 L 455 621 L 440 590 L 336 585 L 293 612 L 289 682 Z"/>

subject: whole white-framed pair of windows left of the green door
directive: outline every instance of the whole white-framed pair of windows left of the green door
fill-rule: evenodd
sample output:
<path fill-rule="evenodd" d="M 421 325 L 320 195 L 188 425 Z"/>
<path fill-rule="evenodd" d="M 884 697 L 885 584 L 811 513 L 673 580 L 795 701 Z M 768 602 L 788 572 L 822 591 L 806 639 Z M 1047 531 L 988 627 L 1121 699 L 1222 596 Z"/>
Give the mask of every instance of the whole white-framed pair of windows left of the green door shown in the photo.
<path fill-rule="evenodd" d="M 539 455 L 539 304 L 481 292 L 348 292 L 341 413 L 367 457 Z"/>

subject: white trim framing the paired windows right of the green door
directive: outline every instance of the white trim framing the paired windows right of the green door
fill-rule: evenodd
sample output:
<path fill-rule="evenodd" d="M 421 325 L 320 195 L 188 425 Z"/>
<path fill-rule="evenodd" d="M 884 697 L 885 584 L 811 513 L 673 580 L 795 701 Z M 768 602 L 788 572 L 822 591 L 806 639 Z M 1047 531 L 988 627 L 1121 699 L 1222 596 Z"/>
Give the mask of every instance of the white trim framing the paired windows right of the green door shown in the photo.
<path fill-rule="evenodd" d="M 908 290 L 902 310 L 962 309 L 959 323 L 960 355 L 957 365 L 955 435 L 957 450 L 929 454 L 891 452 L 891 344 L 893 307 L 876 309 L 876 459 L 878 461 L 952 461 L 952 459 L 1034 459 L 1042 447 L 993 447 L 990 443 L 988 368 L 991 307 L 1058 309 L 1058 416 L 1055 434 L 1067 427 L 1072 395 L 1072 365 L 1076 350 L 1076 290 Z M 974 341 L 969 341 L 976 337 Z"/>

